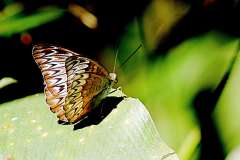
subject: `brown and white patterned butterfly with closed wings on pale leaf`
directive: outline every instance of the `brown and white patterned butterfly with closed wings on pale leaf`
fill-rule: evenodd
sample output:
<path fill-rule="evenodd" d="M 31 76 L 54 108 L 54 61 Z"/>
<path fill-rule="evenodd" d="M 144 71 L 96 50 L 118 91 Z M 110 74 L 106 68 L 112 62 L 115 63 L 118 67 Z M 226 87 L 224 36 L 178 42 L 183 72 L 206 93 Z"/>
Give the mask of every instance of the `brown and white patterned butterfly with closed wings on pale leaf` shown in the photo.
<path fill-rule="evenodd" d="M 85 118 L 110 93 L 116 74 L 68 49 L 39 44 L 32 55 L 44 79 L 46 102 L 61 122 Z"/>

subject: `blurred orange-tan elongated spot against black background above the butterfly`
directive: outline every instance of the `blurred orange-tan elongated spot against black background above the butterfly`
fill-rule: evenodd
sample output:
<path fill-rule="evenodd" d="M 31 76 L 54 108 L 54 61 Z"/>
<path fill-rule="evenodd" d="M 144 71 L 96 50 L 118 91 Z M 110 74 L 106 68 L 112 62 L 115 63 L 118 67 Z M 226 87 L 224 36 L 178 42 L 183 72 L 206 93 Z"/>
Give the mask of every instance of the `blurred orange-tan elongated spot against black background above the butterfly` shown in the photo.
<path fill-rule="evenodd" d="M 81 22 L 88 28 L 95 29 L 98 26 L 97 17 L 90 13 L 85 8 L 77 5 L 70 4 L 68 6 L 69 12 L 71 12 L 75 17 L 79 18 Z"/>

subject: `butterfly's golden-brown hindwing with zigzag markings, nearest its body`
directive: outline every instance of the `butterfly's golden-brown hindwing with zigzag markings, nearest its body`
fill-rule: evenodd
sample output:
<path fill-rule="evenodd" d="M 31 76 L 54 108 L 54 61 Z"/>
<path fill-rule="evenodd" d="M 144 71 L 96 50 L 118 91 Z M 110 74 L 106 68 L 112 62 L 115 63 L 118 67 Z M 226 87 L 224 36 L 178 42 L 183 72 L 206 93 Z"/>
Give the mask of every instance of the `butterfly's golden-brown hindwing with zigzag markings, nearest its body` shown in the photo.
<path fill-rule="evenodd" d="M 93 60 L 73 56 L 66 60 L 67 96 L 65 116 L 70 123 L 84 118 L 93 106 L 91 102 L 109 84 L 108 71 Z"/>

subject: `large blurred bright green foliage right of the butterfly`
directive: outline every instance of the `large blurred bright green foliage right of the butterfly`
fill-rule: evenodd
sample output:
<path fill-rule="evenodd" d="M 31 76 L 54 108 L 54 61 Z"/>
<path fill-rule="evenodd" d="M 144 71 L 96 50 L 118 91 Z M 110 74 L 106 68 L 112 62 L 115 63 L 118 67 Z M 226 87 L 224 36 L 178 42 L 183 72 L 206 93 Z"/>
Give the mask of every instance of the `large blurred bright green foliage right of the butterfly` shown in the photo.
<path fill-rule="evenodd" d="M 123 36 L 120 61 L 141 43 L 137 23 L 131 25 L 132 29 Z M 123 90 L 144 102 L 161 136 L 180 158 L 192 157 L 200 143 L 193 109 L 195 96 L 204 89 L 216 88 L 235 58 L 237 48 L 238 39 L 212 31 L 186 40 L 154 61 L 148 61 L 147 54 L 138 53 L 118 74 Z M 234 131 L 239 133 L 236 128 Z M 186 142 L 189 136 L 192 143 Z"/>

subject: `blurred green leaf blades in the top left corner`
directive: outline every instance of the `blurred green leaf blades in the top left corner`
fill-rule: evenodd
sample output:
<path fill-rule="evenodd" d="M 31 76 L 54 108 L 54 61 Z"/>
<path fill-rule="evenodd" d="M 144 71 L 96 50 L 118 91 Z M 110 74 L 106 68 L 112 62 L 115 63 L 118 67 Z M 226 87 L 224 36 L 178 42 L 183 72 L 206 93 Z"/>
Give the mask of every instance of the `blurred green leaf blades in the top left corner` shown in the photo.
<path fill-rule="evenodd" d="M 12 4 L 7 6 L 0 14 L 0 36 L 9 37 L 16 33 L 21 33 L 51 22 L 64 13 L 63 9 L 47 6 L 41 8 L 32 15 L 22 14 L 23 8 L 21 4 Z"/>

